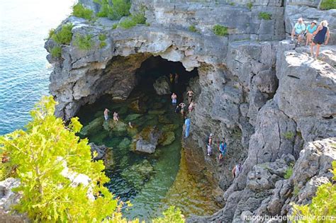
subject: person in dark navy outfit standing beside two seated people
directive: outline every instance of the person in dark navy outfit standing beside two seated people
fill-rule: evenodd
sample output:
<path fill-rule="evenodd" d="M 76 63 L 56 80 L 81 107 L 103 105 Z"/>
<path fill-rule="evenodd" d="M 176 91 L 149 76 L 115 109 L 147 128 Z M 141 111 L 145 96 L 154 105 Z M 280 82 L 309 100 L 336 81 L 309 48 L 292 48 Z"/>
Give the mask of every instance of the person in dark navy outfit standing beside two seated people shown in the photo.
<path fill-rule="evenodd" d="M 315 35 L 313 42 L 310 44 L 310 56 L 314 57 L 314 46 L 316 47 L 316 55 L 315 59 L 318 59 L 318 53 L 320 52 L 320 46 L 323 44 L 327 45 L 327 41 L 329 40 L 330 33 L 329 28 L 327 27 L 327 21 L 322 21 L 320 25 L 318 25 L 318 28 L 313 33 Z M 327 35 L 327 39 L 325 39 L 325 35 Z"/>

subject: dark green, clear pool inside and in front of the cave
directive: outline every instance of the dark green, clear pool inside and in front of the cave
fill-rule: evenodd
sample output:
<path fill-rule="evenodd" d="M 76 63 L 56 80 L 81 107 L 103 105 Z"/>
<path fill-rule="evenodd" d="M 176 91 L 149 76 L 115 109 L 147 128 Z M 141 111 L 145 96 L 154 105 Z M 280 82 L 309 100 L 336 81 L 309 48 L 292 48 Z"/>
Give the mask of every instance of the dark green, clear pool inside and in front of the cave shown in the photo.
<path fill-rule="evenodd" d="M 151 219 L 170 205 L 179 207 L 186 217 L 211 215 L 218 210 L 213 198 L 208 196 L 211 185 L 206 180 L 196 181 L 188 172 L 181 148 L 184 120 L 174 113 L 169 95 L 155 93 L 152 83 L 157 76 L 158 73 L 151 79 L 140 81 L 125 101 L 102 96 L 94 104 L 84 105 L 78 113 L 84 125 L 82 137 L 109 148 L 106 175 L 111 181 L 106 186 L 121 200 L 130 200 L 133 204 L 123 210 L 125 217 Z M 189 78 L 185 81 L 182 78 L 178 86 L 174 86 L 179 96 L 186 90 L 187 80 Z M 105 108 L 111 111 L 110 118 L 114 111 L 118 113 L 118 126 L 111 119 L 109 122 L 103 120 Z M 133 129 L 128 127 L 128 122 L 132 123 Z M 159 139 L 155 153 L 133 151 L 133 139 L 153 126 L 164 135 L 164 139 Z"/>

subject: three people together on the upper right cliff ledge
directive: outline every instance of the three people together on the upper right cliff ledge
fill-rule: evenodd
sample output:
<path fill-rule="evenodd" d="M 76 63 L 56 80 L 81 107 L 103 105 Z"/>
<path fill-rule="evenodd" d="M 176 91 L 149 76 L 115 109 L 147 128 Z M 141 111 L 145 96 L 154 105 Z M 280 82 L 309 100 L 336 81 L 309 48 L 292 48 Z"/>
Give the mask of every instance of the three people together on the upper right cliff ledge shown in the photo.
<path fill-rule="evenodd" d="M 298 45 L 306 37 L 306 46 L 310 44 L 310 56 L 314 57 L 314 46 L 316 45 L 315 59 L 318 59 L 321 45 L 327 45 L 330 38 L 329 28 L 327 21 L 322 21 L 318 25 L 318 21 L 313 20 L 310 25 L 303 23 L 303 18 L 298 18 L 298 22 L 294 25 L 291 31 L 291 41 L 298 38 Z"/>

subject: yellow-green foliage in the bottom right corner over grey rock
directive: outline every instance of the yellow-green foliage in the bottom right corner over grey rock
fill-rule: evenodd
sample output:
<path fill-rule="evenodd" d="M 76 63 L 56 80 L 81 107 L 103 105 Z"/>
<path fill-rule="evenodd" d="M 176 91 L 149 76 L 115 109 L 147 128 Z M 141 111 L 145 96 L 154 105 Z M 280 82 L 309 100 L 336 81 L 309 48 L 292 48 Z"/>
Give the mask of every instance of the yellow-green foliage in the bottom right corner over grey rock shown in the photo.
<path fill-rule="evenodd" d="M 336 161 L 332 162 L 333 180 L 336 181 Z M 318 187 L 316 195 L 312 202 L 308 205 L 293 204 L 292 219 L 306 219 L 298 220 L 296 222 L 334 222 L 334 219 L 322 220 L 322 217 L 336 216 L 336 184 L 325 183 Z M 318 219 L 320 218 L 320 220 Z"/>

